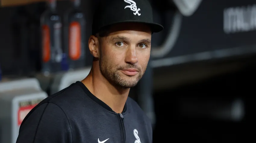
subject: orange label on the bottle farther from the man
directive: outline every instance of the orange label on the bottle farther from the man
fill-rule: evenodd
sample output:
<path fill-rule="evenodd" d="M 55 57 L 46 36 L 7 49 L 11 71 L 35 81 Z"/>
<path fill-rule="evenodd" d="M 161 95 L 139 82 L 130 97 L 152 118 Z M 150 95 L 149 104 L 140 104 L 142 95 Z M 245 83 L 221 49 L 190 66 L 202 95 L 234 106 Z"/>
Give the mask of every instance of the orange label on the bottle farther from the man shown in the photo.
<path fill-rule="evenodd" d="M 43 50 L 43 62 L 50 60 L 50 28 L 48 25 L 42 26 L 42 50 Z"/>

